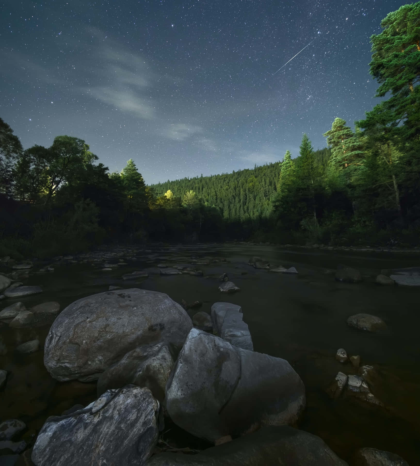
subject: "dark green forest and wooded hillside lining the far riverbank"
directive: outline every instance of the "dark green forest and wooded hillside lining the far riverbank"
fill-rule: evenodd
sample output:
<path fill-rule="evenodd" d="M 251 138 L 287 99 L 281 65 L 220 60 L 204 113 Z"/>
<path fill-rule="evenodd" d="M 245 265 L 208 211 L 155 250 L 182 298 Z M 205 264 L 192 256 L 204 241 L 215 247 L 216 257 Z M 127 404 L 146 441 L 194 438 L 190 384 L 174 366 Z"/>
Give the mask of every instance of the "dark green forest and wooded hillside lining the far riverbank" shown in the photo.
<path fill-rule="evenodd" d="M 404 5 L 371 37 L 385 99 L 355 131 L 336 117 L 327 148 L 314 151 L 304 133 L 298 157 L 286 151 L 281 163 L 147 186 L 131 159 L 109 173 L 76 137 L 23 150 L 0 119 L 0 254 L 115 240 L 419 244 L 419 18 L 420 2 Z"/>

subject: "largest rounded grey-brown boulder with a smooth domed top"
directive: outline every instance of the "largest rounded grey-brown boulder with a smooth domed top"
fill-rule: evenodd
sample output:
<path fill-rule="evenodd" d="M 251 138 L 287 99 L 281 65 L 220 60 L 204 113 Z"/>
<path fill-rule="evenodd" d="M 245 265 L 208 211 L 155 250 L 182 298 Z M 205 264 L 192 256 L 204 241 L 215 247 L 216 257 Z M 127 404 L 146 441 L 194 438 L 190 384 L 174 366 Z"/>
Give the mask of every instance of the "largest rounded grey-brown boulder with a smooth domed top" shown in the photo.
<path fill-rule="evenodd" d="M 61 311 L 45 340 L 44 364 L 60 381 L 97 380 L 133 349 L 165 343 L 179 351 L 191 328 L 189 315 L 164 293 L 107 291 Z"/>

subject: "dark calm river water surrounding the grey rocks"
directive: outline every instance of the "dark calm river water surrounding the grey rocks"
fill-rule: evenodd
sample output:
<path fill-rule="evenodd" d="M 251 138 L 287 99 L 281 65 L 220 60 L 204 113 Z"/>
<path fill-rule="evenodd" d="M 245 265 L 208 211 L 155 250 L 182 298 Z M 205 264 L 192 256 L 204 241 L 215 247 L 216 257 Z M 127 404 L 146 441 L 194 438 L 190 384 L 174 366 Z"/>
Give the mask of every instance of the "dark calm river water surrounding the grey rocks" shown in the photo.
<path fill-rule="evenodd" d="M 117 248 L 118 258 L 108 256 L 105 261 L 53 263 L 53 273 L 33 274 L 24 280 L 25 285 L 41 285 L 42 294 L 4 300 L 0 309 L 17 301 L 27 308 L 58 301 L 63 309 L 84 296 L 107 291 L 109 285 L 160 291 L 179 303 L 182 299 L 201 301 L 203 306 L 198 310 L 208 313 L 214 302 L 238 304 L 251 331 L 254 350 L 288 360 L 304 381 L 307 409 L 301 429 L 324 439 L 347 461 L 356 449 L 368 446 L 397 453 L 410 465 L 419 464 L 420 287 L 381 286 L 374 279 L 384 268 L 419 266 L 420 253 L 232 244 L 132 249 Z M 298 274 L 256 270 L 247 264 L 254 255 L 273 265 L 294 266 Z M 206 258 L 210 265 L 196 266 L 203 270 L 204 277 L 161 276 L 156 267 L 159 263 L 191 266 L 191 260 Z M 102 271 L 104 262 L 121 260 L 127 265 Z M 358 284 L 335 281 L 338 264 L 359 269 L 364 280 Z M 39 268 L 35 263 L 33 270 Z M 150 272 L 147 279 L 127 282 L 121 278 L 122 274 L 146 268 Z M 218 291 L 218 276 L 224 272 L 240 292 L 224 295 Z M 196 312 L 188 311 L 191 317 Z M 347 317 L 360 312 L 381 317 L 388 329 L 370 333 L 349 327 Z M 43 347 L 53 320 L 25 329 L 12 329 L 6 324 L 0 327 L 7 346 L 7 354 L 0 356 L 0 369 L 9 371 L 7 385 L 0 391 L 0 421 L 19 418 L 26 422 L 28 430 L 23 438 L 27 441 L 33 439 L 48 416 L 96 398 L 95 383 L 59 383 L 52 379 L 43 366 L 42 350 L 26 355 L 14 352 L 18 344 L 35 337 Z M 362 365 L 374 366 L 377 376 L 371 390 L 384 407 L 354 397 L 332 400 L 327 396 L 325 389 L 339 371 L 357 373 L 349 363 L 335 360 L 339 348 L 349 356 L 359 355 Z M 191 447 L 198 445 L 191 445 L 191 441 L 185 435 Z M 177 432 L 180 442 L 183 436 Z"/>

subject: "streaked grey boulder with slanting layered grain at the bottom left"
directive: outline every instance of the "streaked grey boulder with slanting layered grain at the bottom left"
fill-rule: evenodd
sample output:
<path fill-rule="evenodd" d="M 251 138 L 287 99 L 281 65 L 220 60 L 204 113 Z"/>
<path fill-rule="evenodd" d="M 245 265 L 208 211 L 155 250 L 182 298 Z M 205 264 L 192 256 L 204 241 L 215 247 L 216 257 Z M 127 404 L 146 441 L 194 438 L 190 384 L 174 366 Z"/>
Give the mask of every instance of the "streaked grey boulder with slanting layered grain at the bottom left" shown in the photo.
<path fill-rule="evenodd" d="M 109 390 L 80 411 L 47 418 L 32 461 L 37 466 L 142 465 L 158 439 L 158 410 L 147 388 Z"/>

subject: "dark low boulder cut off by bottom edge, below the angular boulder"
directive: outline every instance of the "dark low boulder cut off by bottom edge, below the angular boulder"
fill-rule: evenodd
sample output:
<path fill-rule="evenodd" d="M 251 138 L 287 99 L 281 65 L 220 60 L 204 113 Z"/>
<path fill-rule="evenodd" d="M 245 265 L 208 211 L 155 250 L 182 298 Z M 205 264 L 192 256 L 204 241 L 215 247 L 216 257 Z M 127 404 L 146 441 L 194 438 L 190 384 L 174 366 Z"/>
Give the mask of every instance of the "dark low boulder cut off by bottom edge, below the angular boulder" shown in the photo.
<path fill-rule="evenodd" d="M 271 465 L 348 466 L 316 435 L 286 425 L 265 426 L 196 455 L 160 453 L 146 463 L 146 466 Z"/>

